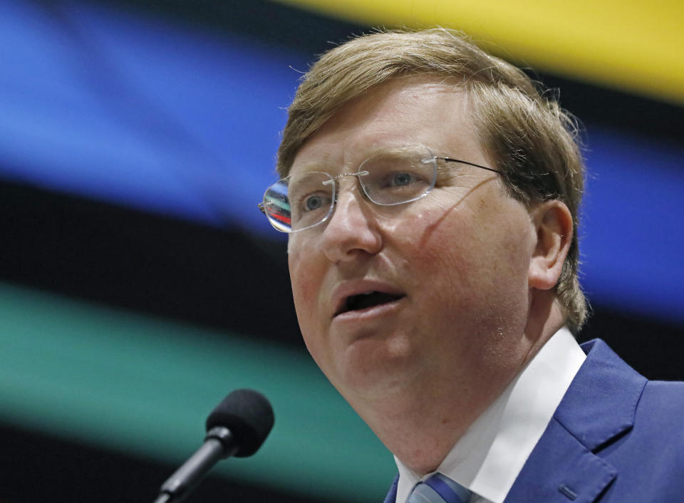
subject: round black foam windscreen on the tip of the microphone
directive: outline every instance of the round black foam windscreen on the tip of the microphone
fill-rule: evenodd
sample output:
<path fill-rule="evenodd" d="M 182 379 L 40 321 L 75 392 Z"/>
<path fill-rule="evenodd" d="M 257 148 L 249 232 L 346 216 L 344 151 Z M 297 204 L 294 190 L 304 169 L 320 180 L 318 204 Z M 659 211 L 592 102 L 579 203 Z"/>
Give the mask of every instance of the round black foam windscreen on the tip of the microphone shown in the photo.
<path fill-rule="evenodd" d="M 273 427 L 273 409 L 269 400 L 254 390 L 234 390 L 209 414 L 207 431 L 227 427 L 237 444 L 237 457 L 257 452 Z"/>

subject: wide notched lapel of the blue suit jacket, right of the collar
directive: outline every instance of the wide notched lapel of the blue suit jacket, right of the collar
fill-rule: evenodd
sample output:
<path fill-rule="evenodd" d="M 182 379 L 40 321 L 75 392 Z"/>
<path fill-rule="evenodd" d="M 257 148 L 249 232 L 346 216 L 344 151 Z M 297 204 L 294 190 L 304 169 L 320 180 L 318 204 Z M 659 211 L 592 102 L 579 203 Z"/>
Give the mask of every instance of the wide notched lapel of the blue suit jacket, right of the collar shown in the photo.
<path fill-rule="evenodd" d="M 591 503 L 618 475 L 600 452 L 631 430 L 646 378 L 603 341 L 583 349 L 589 351 L 586 361 L 505 503 Z"/>

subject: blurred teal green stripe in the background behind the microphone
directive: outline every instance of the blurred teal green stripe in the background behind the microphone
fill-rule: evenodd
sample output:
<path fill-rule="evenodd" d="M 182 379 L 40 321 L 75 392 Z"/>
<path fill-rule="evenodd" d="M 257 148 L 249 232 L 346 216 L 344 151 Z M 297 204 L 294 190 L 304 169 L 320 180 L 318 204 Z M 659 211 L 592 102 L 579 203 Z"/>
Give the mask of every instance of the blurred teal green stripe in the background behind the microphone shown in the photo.
<path fill-rule="evenodd" d="M 214 405 L 254 388 L 273 403 L 274 430 L 257 455 L 222 472 L 339 501 L 381 501 L 395 472 L 304 351 L 8 284 L 0 320 L 5 422 L 181 462 Z"/>

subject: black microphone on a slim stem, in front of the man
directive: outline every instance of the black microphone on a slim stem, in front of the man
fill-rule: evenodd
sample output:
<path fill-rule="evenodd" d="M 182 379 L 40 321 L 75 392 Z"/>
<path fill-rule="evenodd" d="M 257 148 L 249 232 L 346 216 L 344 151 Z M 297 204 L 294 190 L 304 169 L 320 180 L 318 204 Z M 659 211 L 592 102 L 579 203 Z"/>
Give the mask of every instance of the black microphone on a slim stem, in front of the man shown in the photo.
<path fill-rule="evenodd" d="M 155 503 L 178 503 L 226 457 L 257 452 L 273 427 L 273 409 L 254 390 L 234 390 L 207 418 L 204 444 L 162 484 Z"/>

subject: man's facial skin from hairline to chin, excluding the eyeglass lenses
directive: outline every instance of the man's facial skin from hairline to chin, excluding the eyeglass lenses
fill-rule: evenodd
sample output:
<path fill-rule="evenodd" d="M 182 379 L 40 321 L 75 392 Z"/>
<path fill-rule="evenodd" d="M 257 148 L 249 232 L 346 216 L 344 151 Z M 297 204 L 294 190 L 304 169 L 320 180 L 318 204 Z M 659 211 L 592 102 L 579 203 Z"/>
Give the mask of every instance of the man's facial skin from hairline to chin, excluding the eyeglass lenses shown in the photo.
<path fill-rule="evenodd" d="M 395 79 L 338 110 L 291 174 L 356 172 L 374 152 L 405 145 L 494 167 L 470 113 L 449 83 Z M 458 163 L 445 173 L 423 199 L 389 207 L 343 177 L 328 222 L 290 234 L 304 341 L 355 407 L 408 390 L 495 395 L 529 351 L 527 209 L 496 173 Z"/>

